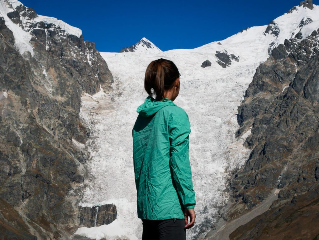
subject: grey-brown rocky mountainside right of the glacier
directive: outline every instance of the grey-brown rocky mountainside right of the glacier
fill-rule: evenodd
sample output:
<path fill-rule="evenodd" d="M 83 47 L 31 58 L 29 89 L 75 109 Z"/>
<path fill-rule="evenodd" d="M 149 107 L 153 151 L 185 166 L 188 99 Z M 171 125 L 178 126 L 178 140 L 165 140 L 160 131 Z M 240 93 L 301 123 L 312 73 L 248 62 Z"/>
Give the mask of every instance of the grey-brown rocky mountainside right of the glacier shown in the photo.
<path fill-rule="evenodd" d="M 318 237 L 318 32 L 274 48 L 238 108 L 237 136 L 252 127 L 244 143 L 252 151 L 230 182 L 236 204 L 227 218 L 253 208 L 273 188 L 280 192 L 268 211 L 237 228 L 230 239 L 286 239 L 282 233 L 292 239 Z M 291 230 L 297 226 L 305 232 Z"/>

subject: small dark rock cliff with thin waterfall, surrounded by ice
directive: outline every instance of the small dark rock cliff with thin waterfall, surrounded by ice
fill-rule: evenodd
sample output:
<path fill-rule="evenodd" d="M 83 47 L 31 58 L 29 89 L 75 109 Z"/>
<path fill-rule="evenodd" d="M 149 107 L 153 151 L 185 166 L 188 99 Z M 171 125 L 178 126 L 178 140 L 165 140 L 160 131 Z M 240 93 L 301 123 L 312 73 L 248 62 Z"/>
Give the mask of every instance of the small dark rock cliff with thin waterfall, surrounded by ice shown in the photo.
<path fill-rule="evenodd" d="M 93 207 L 79 208 L 79 227 L 99 227 L 104 224 L 110 224 L 116 219 L 116 206 L 105 204 Z"/>

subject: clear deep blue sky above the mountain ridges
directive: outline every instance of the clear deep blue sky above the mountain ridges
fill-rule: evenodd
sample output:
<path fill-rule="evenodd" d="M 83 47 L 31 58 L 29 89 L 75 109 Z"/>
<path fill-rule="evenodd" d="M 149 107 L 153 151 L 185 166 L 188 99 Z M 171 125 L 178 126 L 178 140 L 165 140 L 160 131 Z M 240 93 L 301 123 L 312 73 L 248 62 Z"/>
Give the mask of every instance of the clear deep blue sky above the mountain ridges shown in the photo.
<path fill-rule="evenodd" d="M 88 1 L 20 0 L 38 14 L 82 30 L 96 49 L 119 52 L 146 37 L 161 50 L 191 49 L 223 40 L 246 27 L 261 26 L 298 0 L 279 1 Z M 314 0 L 318 4 L 319 0 Z"/>

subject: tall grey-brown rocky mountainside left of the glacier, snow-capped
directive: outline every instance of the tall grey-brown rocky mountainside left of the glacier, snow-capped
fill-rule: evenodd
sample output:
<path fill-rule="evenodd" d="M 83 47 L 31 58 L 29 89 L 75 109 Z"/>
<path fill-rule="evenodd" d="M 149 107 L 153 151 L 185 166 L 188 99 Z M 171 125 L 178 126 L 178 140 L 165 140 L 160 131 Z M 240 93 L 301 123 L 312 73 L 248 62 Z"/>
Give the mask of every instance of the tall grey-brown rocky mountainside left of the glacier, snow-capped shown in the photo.
<path fill-rule="evenodd" d="M 7 0 L 0 10 L 0 238 L 69 239 L 90 135 L 80 97 L 113 77 L 71 26 Z"/>

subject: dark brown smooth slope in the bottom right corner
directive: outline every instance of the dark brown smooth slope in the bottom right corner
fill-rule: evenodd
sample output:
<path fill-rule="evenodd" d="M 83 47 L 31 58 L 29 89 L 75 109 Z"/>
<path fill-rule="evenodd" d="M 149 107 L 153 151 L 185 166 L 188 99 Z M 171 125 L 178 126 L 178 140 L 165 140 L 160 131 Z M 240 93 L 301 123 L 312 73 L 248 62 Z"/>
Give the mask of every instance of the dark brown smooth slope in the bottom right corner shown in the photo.
<path fill-rule="evenodd" d="M 318 196 L 318 187 L 312 187 L 283 204 L 274 201 L 268 211 L 241 225 L 229 235 L 229 239 L 285 239 L 286 236 L 293 236 L 293 239 L 316 239 L 319 236 L 316 227 L 319 217 Z M 296 231 L 297 228 L 305 232 Z"/>

